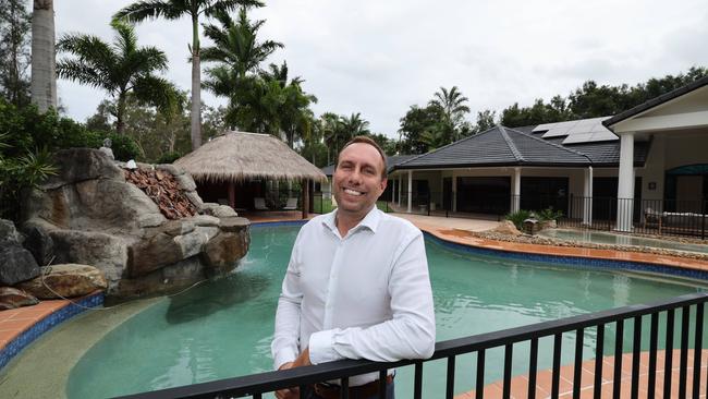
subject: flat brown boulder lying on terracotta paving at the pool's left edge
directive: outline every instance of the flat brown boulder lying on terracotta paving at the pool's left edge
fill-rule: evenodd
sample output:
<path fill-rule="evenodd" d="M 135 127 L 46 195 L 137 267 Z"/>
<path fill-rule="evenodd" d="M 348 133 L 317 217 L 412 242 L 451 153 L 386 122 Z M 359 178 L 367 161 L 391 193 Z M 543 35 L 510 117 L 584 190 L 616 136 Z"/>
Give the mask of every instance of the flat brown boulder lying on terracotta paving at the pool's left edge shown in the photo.
<path fill-rule="evenodd" d="M 96 267 L 64 264 L 45 266 L 39 277 L 21 282 L 16 287 L 46 300 L 87 295 L 96 290 L 107 289 L 108 282 Z"/>

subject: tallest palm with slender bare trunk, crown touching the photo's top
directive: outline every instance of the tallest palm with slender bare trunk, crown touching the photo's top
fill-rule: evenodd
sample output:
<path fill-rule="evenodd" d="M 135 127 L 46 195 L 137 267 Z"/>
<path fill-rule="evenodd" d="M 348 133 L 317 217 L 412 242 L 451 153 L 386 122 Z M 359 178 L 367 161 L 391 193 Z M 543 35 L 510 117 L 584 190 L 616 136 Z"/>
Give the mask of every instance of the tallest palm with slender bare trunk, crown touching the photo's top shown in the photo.
<path fill-rule="evenodd" d="M 192 149 L 202 145 L 202 70 L 199 66 L 199 16 L 210 17 L 239 7 L 263 7 L 258 0 L 139 0 L 115 13 L 117 19 L 141 22 L 147 19 L 192 19 Z"/>

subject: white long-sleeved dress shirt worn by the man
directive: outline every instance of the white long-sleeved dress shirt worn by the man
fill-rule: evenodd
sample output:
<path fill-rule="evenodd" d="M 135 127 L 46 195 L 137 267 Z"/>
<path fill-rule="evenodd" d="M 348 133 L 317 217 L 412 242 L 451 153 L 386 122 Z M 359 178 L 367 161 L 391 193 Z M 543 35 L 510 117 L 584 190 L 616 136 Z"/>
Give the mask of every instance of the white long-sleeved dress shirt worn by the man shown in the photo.
<path fill-rule="evenodd" d="M 295 240 L 276 315 L 276 368 L 308 347 L 313 364 L 429 358 L 435 314 L 423 233 L 374 207 L 342 238 L 335 214 L 315 217 Z"/>

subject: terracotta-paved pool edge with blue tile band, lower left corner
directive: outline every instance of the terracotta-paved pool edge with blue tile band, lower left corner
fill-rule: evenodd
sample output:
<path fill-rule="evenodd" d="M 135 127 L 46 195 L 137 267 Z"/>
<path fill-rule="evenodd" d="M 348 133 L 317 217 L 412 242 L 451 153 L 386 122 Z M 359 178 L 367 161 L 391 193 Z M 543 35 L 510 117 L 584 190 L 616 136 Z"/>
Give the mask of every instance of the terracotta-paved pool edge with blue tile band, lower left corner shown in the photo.
<path fill-rule="evenodd" d="M 4 343 L 0 342 L 0 371 L 45 332 L 88 309 L 101 306 L 103 298 L 103 292 L 97 291 L 71 301 L 41 301 L 37 305 L 3 311 L 2 315 L 7 315 L 5 312 L 11 314 L 8 319 L 0 322 L 0 330 L 2 323 L 10 323 L 14 326 L 10 332 L 14 337 Z"/>

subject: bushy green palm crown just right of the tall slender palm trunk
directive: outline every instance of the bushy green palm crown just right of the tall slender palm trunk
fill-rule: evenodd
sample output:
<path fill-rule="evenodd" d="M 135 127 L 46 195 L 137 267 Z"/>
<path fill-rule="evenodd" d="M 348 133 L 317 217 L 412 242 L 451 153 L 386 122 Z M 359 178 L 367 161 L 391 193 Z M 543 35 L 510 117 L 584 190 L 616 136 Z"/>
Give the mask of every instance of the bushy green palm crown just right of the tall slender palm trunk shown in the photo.
<path fill-rule="evenodd" d="M 284 47 L 282 43 L 273 40 L 259 43 L 256 39 L 258 29 L 266 21 L 252 23 L 246 8 L 242 7 L 239 10 L 237 21 L 233 21 L 228 12 L 217 12 L 213 16 L 221 26 L 204 26 L 204 34 L 213 41 L 215 46 L 202 50 L 202 60 L 229 64 L 239 77 L 245 77 L 247 72 L 257 71 L 268 56 Z M 286 71 L 285 69 L 285 73 Z"/>

